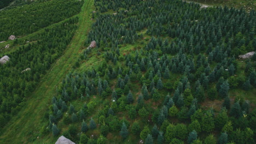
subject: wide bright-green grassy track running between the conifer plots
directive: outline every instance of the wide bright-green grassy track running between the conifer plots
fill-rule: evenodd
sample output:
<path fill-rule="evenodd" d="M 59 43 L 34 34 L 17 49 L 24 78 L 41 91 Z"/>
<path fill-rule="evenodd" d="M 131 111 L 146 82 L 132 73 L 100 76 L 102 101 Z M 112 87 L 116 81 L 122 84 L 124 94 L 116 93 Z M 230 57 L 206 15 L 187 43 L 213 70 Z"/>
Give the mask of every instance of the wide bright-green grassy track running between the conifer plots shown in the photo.
<path fill-rule="evenodd" d="M 27 98 L 26 105 L 14 116 L 3 129 L 0 143 L 54 143 L 57 139 L 51 136 L 40 136 L 40 129 L 46 125 L 44 110 L 49 106 L 56 93 L 56 86 L 62 81 L 78 58 L 79 49 L 83 47 L 92 21 L 90 13 L 93 1 L 85 0 L 79 16 L 79 27 L 71 44 L 42 79 L 36 90 Z M 38 137 L 39 136 L 39 137 Z M 38 138 L 37 138 L 38 137 Z"/>

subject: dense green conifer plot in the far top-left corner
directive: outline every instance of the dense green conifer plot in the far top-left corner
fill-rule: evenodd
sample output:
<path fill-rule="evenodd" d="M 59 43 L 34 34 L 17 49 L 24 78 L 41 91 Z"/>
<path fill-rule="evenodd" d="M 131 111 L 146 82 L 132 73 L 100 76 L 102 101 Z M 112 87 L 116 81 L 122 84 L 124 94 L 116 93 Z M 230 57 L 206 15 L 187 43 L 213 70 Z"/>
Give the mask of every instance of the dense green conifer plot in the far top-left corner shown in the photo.
<path fill-rule="evenodd" d="M 37 1 L 0 11 L 0 41 L 27 35 L 78 14 L 83 1 Z"/>

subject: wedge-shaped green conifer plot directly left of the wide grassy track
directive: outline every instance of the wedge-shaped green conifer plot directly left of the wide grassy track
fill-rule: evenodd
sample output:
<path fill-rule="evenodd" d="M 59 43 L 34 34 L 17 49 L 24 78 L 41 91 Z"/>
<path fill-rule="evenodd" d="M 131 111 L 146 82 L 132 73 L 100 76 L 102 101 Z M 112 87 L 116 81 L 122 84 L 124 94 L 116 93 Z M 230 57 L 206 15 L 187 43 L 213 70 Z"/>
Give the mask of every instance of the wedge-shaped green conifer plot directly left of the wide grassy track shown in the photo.
<path fill-rule="evenodd" d="M 71 41 L 77 28 L 74 17 L 38 34 L 34 43 L 8 53 L 10 61 L 0 65 L 0 128 L 15 115 Z M 22 71 L 26 68 L 31 70 Z"/>

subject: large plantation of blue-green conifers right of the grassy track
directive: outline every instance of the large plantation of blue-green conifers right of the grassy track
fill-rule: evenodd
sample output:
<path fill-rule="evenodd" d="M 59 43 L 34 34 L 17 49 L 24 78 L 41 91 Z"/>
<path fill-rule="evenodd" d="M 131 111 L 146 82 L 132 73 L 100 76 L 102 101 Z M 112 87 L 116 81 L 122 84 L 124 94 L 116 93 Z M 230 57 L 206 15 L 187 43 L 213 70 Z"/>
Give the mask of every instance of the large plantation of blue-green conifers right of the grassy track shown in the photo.
<path fill-rule="evenodd" d="M 255 142 L 256 55 L 237 59 L 255 51 L 254 11 L 178 0 L 94 5 L 84 46 L 97 47 L 63 79 L 42 134 L 76 143 Z"/>

